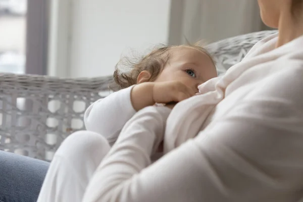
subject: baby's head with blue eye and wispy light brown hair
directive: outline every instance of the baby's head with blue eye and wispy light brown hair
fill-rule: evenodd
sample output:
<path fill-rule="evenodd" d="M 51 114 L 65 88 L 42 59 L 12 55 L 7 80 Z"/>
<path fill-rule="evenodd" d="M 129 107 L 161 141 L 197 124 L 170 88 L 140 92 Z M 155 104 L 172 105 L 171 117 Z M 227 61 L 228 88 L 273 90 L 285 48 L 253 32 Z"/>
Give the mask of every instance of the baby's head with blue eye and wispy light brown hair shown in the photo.
<path fill-rule="evenodd" d="M 130 71 L 121 70 L 120 65 Z M 211 55 L 197 45 L 160 47 L 134 63 L 121 60 L 114 72 L 120 89 L 142 82 L 180 81 L 196 92 L 199 84 L 216 76 Z"/>

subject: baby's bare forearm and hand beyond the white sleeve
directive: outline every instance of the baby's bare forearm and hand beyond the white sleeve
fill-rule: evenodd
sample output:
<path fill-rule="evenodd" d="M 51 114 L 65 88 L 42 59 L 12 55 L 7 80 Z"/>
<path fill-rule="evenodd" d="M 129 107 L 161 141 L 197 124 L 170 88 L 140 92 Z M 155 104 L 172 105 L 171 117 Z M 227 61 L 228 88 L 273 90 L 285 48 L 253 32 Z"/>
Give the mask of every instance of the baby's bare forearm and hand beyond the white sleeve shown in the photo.
<path fill-rule="evenodd" d="M 180 81 L 146 82 L 133 87 L 131 102 L 133 108 L 139 111 L 156 103 L 178 103 L 195 95 L 195 92 Z M 172 109 L 172 106 L 169 105 Z"/>

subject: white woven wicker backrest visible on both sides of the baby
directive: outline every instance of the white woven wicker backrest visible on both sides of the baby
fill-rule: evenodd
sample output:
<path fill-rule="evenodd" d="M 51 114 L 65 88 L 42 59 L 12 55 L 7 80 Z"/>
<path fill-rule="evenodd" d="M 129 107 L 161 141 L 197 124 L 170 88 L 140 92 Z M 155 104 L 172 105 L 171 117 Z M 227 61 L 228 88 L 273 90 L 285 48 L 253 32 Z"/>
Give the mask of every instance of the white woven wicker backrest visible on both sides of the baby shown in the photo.
<path fill-rule="evenodd" d="M 275 31 L 256 32 L 212 43 L 219 74 L 240 62 L 260 39 Z M 112 76 L 60 79 L 0 74 L 0 149 L 51 161 L 62 141 L 84 130 L 85 109 L 110 93 Z"/>

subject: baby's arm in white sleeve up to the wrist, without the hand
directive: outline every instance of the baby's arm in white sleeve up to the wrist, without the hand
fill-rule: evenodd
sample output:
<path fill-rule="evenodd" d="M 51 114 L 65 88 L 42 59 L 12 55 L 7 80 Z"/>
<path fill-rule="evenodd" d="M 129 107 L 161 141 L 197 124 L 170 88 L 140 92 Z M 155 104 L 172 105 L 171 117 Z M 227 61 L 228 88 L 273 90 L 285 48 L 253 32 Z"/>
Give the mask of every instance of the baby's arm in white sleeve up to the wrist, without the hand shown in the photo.
<path fill-rule="evenodd" d="M 154 83 L 137 84 L 98 99 L 84 113 L 86 130 L 99 133 L 110 144 L 114 143 L 136 111 L 155 104 L 153 87 Z"/>

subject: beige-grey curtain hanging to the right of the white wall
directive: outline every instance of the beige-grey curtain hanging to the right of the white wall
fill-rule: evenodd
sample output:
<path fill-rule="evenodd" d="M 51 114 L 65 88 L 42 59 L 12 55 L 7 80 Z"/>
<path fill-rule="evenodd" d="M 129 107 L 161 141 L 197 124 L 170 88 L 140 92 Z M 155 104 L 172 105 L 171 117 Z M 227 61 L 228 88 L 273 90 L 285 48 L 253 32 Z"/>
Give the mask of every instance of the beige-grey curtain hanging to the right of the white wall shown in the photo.
<path fill-rule="evenodd" d="M 169 44 L 213 42 L 264 29 L 257 0 L 171 0 Z"/>

